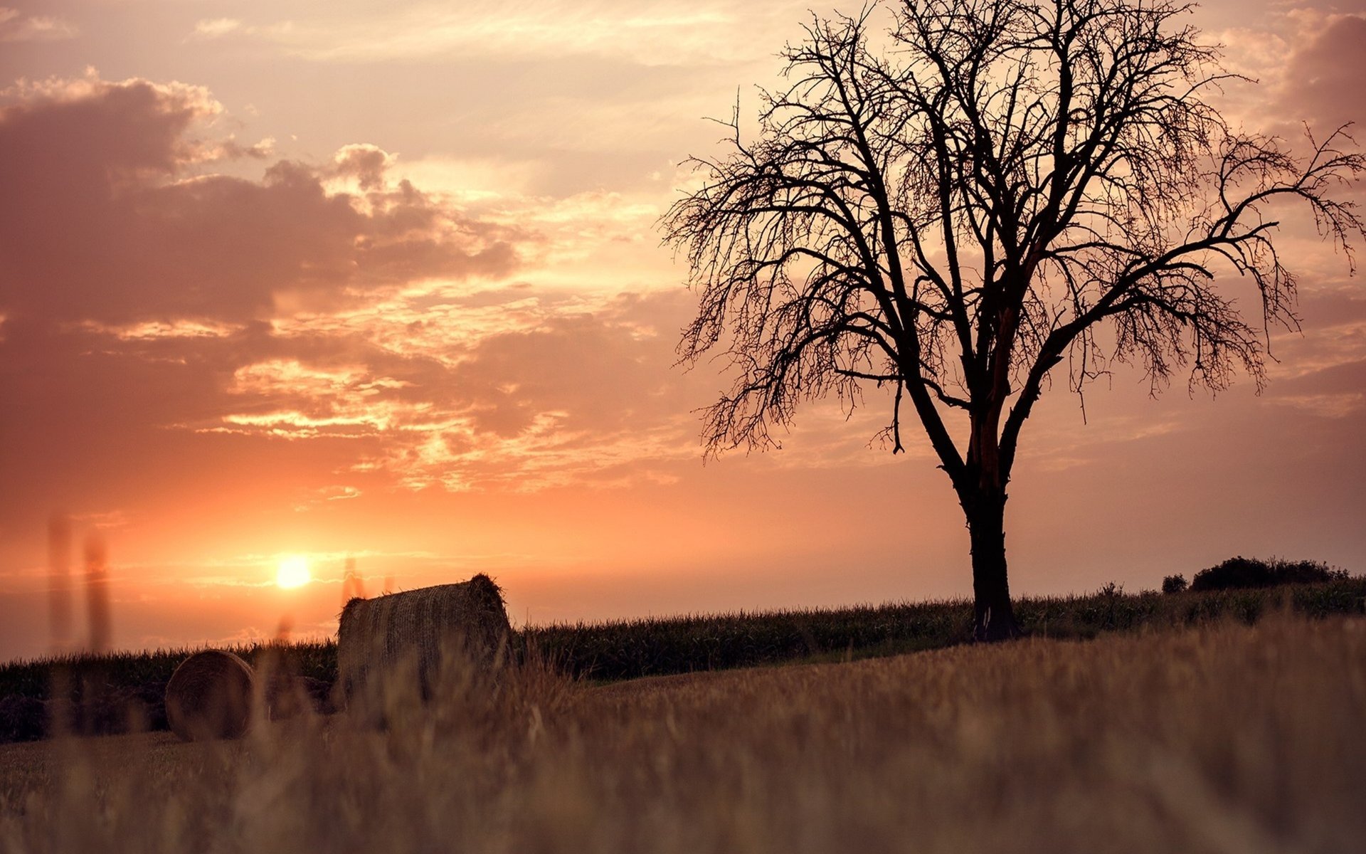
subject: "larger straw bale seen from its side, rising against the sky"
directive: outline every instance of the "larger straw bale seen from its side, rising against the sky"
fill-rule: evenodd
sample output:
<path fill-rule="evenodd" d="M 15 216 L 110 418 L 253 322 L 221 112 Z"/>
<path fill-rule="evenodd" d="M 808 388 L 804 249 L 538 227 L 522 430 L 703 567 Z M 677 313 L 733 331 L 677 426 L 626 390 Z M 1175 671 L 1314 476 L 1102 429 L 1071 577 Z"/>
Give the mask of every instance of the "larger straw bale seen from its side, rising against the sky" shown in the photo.
<path fill-rule="evenodd" d="M 490 667 L 511 635 L 503 590 L 482 573 L 460 583 L 352 598 L 337 624 L 337 679 L 354 698 L 367 682 L 367 690 L 382 687 L 381 676 L 415 661 L 429 698 L 443 656 Z"/>

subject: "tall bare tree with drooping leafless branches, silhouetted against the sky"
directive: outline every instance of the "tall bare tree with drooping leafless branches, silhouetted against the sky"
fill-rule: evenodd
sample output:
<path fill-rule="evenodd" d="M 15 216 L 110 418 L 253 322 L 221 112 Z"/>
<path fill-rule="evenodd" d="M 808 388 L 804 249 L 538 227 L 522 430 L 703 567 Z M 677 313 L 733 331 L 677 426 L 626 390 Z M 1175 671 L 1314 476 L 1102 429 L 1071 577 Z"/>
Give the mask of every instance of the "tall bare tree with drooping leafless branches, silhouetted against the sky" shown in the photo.
<path fill-rule="evenodd" d="M 1273 324 L 1298 325 L 1273 238 L 1279 199 L 1346 253 L 1335 201 L 1366 168 L 1337 128 L 1296 153 L 1212 105 L 1216 46 L 1165 0 L 902 0 L 814 18 L 758 133 L 694 159 L 701 189 L 663 219 L 701 297 L 680 355 L 736 378 L 708 410 L 709 454 L 772 444 L 803 399 L 888 387 L 948 473 L 973 551 L 975 637 L 1016 635 L 1004 507 L 1049 372 L 1074 391 L 1112 362 L 1162 388 L 1190 368 L 1261 388 Z M 892 26 L 877 22 L 891 14 Z M 1259 294 L 1244 318 L 1216 288 Z M 951 429 L 952 428 L 952 429 Z M 955 439 L 955 430 L 960 430 Z"/>

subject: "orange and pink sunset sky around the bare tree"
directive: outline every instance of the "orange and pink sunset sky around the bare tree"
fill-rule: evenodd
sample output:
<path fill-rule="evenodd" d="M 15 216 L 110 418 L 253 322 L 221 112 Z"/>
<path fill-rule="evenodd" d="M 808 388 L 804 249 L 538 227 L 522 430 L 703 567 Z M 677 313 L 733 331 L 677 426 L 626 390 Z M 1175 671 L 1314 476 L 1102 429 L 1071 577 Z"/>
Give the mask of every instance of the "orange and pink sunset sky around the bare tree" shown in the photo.
<path fill-rule="evenodd" d="M 49 649 L 55 512 L 75 575 L 108 544 L 120 648 L 331 634 L 348 557 L 369 592 L 486 571 L 518 624 L 970 594 L 928 445 L 872 441 L 889 398 L 703 466 L 728 381 L 673 366 L 656 220 L 809 0 L 0 4 L 0 660 Z M 1366 120 L 1366 0 L 1193 20 L 1259 79 L 1238 122 Z M 1014 593 L 1366 571 L 1366 276 L 1294 213 L 1261 396 L 1045 394 Z"/>

